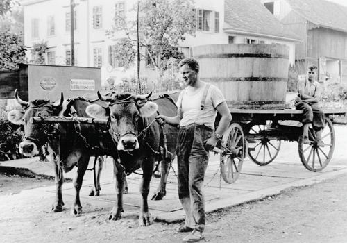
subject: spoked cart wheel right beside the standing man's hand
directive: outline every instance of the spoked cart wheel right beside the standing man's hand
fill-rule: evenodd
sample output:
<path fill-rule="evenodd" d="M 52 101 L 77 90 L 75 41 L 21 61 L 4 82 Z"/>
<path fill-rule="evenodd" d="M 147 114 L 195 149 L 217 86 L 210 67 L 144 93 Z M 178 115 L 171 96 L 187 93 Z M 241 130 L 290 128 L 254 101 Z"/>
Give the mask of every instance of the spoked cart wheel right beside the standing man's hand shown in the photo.
<path fill-rule="evenodd" d="M 233 123 L 223 134 L 223 146 L 226 154 L 221 154 L 221 176 L 226 183 L 234 183 L 241 173 L 244 163 L 245 140 L 242 127 Z M 235 153 L 228 153 L 234 151 Z"/>

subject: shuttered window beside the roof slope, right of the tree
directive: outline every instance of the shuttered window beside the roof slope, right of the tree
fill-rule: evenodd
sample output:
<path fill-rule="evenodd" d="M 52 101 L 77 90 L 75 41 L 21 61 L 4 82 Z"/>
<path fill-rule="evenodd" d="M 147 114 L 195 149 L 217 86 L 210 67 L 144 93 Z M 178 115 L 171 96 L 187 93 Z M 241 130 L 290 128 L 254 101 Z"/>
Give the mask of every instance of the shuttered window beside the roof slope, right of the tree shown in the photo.
<path fill-rule="evenodd" d="M 219 12 L 210 10 L 197 10 L 198 15 L 196 21 L 198 31 L 211 31 L 219 33 Z"/>

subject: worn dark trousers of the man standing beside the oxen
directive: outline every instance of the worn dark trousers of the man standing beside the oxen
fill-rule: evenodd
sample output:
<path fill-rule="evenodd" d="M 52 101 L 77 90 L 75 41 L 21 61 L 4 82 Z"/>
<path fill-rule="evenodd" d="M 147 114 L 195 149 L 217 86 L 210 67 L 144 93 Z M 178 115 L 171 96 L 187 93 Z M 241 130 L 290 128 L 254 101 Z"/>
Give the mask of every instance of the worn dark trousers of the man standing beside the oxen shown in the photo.
<path fill-rule="evenodd" d="M 177 139 L 178 197 L 185 210 L 185 225 L 198 231 L 205 228 L 203 181 L 210 157 L 203 141 L 212 133 L 206 126 L 192 124 L 181 127 Z"/>

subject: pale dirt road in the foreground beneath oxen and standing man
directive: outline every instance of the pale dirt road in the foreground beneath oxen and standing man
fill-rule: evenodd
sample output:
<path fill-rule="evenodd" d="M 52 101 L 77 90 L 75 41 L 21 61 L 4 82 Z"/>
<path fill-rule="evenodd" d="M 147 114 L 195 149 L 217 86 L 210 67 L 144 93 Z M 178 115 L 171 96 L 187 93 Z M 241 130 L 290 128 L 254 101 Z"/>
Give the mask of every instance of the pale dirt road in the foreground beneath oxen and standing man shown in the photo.
<path fill-rule="evenodd" d="M 180 224 L 137 224 L 137 215 L 105 221 L 110 208 L 51 213 L 51 198 L 24 188 L 53 181 L 0 174 L 0 242 L 181 242 Z M 9 186 L 10 185 L 10 186 Z M 207 215 L 202 242 L 347 242 L 347 174 Z M 10 190 L 10 191 L 9 191 Z M 35 191 L 35 190 L 34 190 Z M 20 192 L 20 193 L 19 193 Z M 28 195 L 31 195 L 28 197 Z M 71 201 L 65 201 L 71 205 Z M 67 207 L 69 208 L 69 207 Z"/>

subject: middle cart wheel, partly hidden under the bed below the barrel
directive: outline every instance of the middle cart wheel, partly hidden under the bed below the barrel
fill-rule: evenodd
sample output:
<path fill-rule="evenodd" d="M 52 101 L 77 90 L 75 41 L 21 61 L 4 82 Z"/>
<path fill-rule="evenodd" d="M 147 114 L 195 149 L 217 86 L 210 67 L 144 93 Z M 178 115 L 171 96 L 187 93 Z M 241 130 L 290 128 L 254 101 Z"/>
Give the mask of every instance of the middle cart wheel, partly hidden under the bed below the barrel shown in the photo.
<path fill-rule="evenodd" d="M 249 134 L 260 137 L 248 140 L 249 158 L 257 165 L 269 165 L 280 152 L 281 141 L 270 140 L 264 125 L 253 126 Z"/>

